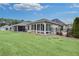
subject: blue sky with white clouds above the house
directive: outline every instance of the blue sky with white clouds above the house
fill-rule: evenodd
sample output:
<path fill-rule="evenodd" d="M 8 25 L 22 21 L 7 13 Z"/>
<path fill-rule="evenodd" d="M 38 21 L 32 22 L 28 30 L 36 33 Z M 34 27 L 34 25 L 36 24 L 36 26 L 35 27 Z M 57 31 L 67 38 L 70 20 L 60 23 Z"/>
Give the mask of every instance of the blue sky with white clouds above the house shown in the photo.
<path fill-rule="evenodd" d="M 78 3 L 0 3 L 0 18 L 25 21 L 46 18 L 72 23 L 78 16 Z"/>

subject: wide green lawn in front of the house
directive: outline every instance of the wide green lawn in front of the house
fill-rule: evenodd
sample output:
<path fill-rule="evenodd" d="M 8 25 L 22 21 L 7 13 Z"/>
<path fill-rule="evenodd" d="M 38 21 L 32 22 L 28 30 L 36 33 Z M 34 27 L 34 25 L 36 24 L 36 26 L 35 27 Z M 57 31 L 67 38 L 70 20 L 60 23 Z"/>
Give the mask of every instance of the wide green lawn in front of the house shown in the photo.
<path fill-rule="evenodd" d="M 79 40 L 56 35 L 0 31 L 0 55 L 79 56 Z"/>

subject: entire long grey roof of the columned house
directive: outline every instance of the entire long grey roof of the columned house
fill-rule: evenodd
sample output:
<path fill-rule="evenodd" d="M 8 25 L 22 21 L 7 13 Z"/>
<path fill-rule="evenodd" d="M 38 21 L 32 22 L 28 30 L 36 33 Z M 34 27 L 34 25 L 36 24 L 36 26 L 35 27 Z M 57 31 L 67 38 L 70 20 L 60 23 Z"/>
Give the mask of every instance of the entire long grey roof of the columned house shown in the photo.
<path fill-rule="evenodd" d="M 16 24 L 16 25 L 19 25 L 19 26 L 26 26 L 28 24 L 34 24 L 34 23 L 42 23 L 42 22 L 47 22 L 47 23 L 52 23 L 52 24 L 56 24 L 56 25 L 66 25 L 64 22 L 60 21 L 59 19 L 53 19 L 53 20 L 48 20 L 48 19 L 45 19 L 45 18 L 42 18 L 40 20 L 37 20 L 37 21 L 25 21 L 25 22 L 22 22 L 22 23 L 19 23 L 19 24 Z"/>

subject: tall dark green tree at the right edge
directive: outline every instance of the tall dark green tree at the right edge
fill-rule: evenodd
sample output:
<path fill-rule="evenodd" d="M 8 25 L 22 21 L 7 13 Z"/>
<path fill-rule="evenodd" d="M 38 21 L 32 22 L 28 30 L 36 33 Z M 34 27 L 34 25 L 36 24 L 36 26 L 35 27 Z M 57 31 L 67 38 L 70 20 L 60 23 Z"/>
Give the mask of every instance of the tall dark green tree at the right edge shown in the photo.
<path fill-rule="evenodd" d="M 74 20 L 72 34 L 74 37 L 79 38 L 79 17 L 76 17 Z"/>

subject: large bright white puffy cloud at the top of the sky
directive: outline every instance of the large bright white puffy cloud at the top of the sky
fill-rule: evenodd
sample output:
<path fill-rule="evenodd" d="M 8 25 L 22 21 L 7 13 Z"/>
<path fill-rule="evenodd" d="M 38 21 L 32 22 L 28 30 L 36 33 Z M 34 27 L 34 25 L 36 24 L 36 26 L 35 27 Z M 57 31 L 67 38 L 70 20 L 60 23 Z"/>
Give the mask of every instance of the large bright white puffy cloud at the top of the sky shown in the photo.
<path fill-rule="evenodd" d="M 19 3 L 14 4 L 13 7 L 16 10 L 42 10 L 43 8 L 47 8 L 48 6 L 42 6 L 38 3 Z"/>

